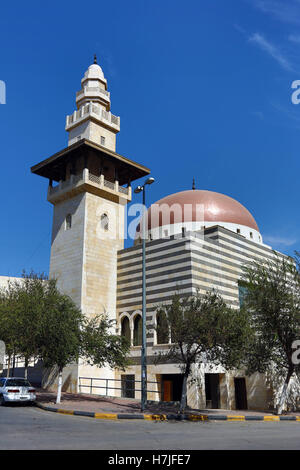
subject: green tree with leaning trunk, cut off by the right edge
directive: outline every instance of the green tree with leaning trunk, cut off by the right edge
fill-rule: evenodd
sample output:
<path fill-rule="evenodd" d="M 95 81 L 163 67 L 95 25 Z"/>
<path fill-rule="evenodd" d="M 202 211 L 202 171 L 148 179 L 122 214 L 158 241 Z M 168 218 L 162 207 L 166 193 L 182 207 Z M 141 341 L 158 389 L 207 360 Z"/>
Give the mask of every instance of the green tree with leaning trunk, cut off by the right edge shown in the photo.
<path fill-rule="evenodd" d="M 244 267 L 242 310 L 251 317 L 253 330 L 248 371 L 277 373 L 284 379 L 277 408 L 281 414 L 290 379 L 300 371 L 294 354 L 300 339 L 299 254 L 295 258 L 273 255 Z"/>

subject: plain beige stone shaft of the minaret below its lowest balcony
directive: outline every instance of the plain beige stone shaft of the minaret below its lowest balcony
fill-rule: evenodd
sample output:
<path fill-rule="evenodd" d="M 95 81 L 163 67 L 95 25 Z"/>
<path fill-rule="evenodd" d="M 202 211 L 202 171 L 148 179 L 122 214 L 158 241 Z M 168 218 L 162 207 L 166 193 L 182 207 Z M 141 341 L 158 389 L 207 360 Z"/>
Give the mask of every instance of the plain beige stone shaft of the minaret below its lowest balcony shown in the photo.
<path fill-rule="evenodd" d="M 117 251 L 123 248 L 124 204 L 84 192 L 54 206 L 50 278 L 88 317 L 106 312 L 115 318 Z M 108 229 L 101 217 L 107 215 Z M 71 227 L 67 217 L 71 216 Z M 117 222 L 117 224 L 116 224 Z M 121 236 L 120 236 L 121 234 Z M 68 381 L 77 388 L 78 376 L 93 376 L 83 363 L 72 367 Z M 68 376 L 71 372 L 65 371 Z M 97 376 L 114 377 L 103 369 Z"/>

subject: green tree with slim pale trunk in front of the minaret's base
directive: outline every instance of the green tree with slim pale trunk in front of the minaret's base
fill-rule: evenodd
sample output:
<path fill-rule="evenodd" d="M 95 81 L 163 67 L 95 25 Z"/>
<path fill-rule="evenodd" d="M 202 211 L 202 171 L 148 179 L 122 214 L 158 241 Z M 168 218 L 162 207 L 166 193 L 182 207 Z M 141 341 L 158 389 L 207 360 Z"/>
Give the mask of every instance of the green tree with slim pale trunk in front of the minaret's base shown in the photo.
<path fill-rule="evenodd" d="M 55 280 L 47 283 L 40 355 L 45 367 L 58 368 L 57 403 L 61 400 L 63 369 L 79 358 L 98 367 L 126 367 L 129 343 L 112 333 L 113 324 L 106 314 L 85 317 L 72 299 L 57 289 Z"/>

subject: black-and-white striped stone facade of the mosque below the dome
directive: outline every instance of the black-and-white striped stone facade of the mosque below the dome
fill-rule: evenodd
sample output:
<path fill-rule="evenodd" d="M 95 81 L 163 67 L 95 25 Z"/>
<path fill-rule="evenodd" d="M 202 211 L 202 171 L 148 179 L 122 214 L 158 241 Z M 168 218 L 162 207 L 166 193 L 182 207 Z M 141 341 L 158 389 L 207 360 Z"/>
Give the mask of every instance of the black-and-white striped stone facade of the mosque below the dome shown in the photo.
<path fill-rule="evenodd" d="M 194 192 L 194 198 L 199 202 L 201 191 L 197 193 Z M 209 214 L 205 215 L 207 225 Z M 238 218 L 236 222 L 238 225 Z M 177 401 L 182 386 L 180 365 L 155 363 L 157 354 L 168 348 L 168 344 L 160 344 L 156 333 L 159 306 L 171 302 L 175 293 L 191 296 L 215 289 L 228 305 L 239 308 L 242 266 L 254 259 L 274 256 L 270 247 L 250 239 L 251 230 L 248 227 L 247 239 L 236 231 L 214 225 L 147 242 L 147 362 L 148 380 L 152 382 L 149 389 L 154 389 L 151 399 L 163 396 L 165 400 Z M 120 331 L 127 337 L 128 331 L 131 335 L 133 365 L 127 373 L 131 380 L 137 381 L 140 380 L 141 263 L 140 244 L 119 251 L 117 315 Z M 229 373 L 209 363 L 193 367 L 187 396 L 188 405 L 193 408 L 265 409 L 272 406 L 272 399 L 272 386 L 261 374 L 247 377 L 244 371 Z"/>

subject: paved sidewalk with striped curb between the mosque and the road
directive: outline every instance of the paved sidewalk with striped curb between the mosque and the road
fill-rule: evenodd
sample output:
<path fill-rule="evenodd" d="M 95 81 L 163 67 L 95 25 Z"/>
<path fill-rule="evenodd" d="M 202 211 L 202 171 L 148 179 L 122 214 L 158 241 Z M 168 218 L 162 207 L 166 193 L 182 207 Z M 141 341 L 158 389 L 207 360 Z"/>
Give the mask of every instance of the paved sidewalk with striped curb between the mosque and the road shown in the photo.
<path fill-rule="evenodd" d="M 129 398 L 114 398 L 114 397 L 105 397 L 99 395 L 90 395 L 90 394 L 74 394 L 63 392 L 61 396 L 61 403 L 56 404 L 56 393 L 49 392 L 45 390 L 37 390 L 37 401 L 44 407 L 55 408 L 60 411 L 78 411 L 86 413 L 97 413 L 97 414 L 126 414 L 126 415 L 141 415 L 140 401 L 129 399 Z M 150 402 L 147 405 L 144 414 L 152 415 L 176 415 L 179 412 L 179 406 L 168 403 L 155 403 Z M 191 416 L 207 416 L 207 419 L 221 418 L 222 416 L 226 417 L 249 417 L 249 419 L 254 418 L 255 416 L 260 417 L 272 417 L 275 418 L 275 413 L 266 410 L 266 411 L 256 411 L 256 410 L 222 410 L 222 409 L 203 409 L 195 410 L 187 408 L 186 415 Z M 284 417 L 298 417 L 300 412 L 290 412 L 284 414 Z M 138 417 L 138 416 L 136 416 Z M 277 418 L 277 417 L 276 417 Z M 299 418 L 300 420 L 300 418 Z"/>

